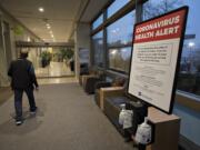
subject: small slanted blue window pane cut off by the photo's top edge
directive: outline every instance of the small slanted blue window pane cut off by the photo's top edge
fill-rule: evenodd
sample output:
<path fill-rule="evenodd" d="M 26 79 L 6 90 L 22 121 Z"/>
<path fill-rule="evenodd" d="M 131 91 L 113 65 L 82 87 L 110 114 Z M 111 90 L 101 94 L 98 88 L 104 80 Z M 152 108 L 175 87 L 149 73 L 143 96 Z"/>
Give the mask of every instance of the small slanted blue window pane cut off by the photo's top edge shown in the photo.
<path fill-rule="evenodd" d="M 113 3 L 108 8 L 108 18 L 124 7 L 129 1 L 130 0 L 114 0 Z"/>

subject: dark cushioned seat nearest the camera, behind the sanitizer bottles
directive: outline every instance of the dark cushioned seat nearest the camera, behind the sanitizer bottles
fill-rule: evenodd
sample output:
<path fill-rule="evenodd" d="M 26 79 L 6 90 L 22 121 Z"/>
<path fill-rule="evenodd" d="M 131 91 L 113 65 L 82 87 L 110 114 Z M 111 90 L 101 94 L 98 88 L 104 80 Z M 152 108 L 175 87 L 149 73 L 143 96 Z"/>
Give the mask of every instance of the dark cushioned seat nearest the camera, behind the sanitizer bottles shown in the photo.
<path fill-rule="evenodd" d="M 119 124 L 120 104 L 122 103 L 126 103 L 126 109 L 133 110 L 132 127 L 126 131 Z M 136 133 L 138 124 L 142 123 L 147 117 L 147 106 L 131 101 L 127 97 L 108 97 L 104 100 L 104 113 L 123 137 L 129 137 Z"/>

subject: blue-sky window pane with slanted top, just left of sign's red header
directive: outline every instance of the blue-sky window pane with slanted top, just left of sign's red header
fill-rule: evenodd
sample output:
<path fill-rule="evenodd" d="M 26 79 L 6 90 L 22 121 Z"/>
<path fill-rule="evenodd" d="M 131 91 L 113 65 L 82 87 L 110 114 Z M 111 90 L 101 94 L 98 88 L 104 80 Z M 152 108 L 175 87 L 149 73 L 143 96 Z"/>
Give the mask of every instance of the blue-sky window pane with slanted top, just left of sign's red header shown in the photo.
<path fill-rule="evenodd" d="M 131 11 L 107 28 L 108 46 L 129 44 L 132 41 L 134 11 Z M 126 26 L 126 28 L 124 28 Z"/>

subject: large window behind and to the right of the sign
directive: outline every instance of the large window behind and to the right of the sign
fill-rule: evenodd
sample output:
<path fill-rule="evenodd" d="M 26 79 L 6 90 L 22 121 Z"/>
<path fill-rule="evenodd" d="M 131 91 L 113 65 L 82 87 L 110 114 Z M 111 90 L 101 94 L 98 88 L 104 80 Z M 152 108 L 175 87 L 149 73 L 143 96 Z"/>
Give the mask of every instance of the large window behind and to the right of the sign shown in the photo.
<path fill-rule="evenodd" d="M 181 6 L 189 6 L 189 16 L 180 62 L 178 89 L 200 96 L 200 13 L 199 0 L 149 0 L 143 6 L 143 19 L 150 19 Z"/>

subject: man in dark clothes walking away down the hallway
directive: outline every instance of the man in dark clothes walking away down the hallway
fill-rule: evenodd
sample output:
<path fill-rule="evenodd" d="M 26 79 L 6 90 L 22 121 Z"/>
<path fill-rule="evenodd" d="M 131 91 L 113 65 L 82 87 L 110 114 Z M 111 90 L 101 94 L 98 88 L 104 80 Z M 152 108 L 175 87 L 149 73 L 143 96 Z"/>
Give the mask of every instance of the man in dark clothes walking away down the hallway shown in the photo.
<path fill-rule="evenodd" d="M 27 60 L 28 51 L 21 51 L 20 58 L 12 61 L 8 71 L 11 77 L 11 88 L 14 91 L 16 124 L 22 123 L 22 94 L 27 93 L 30 104 L 30 112 L 36 113 L 33 89 L 38 90 L 38 82 L 32 62 Z"/>

